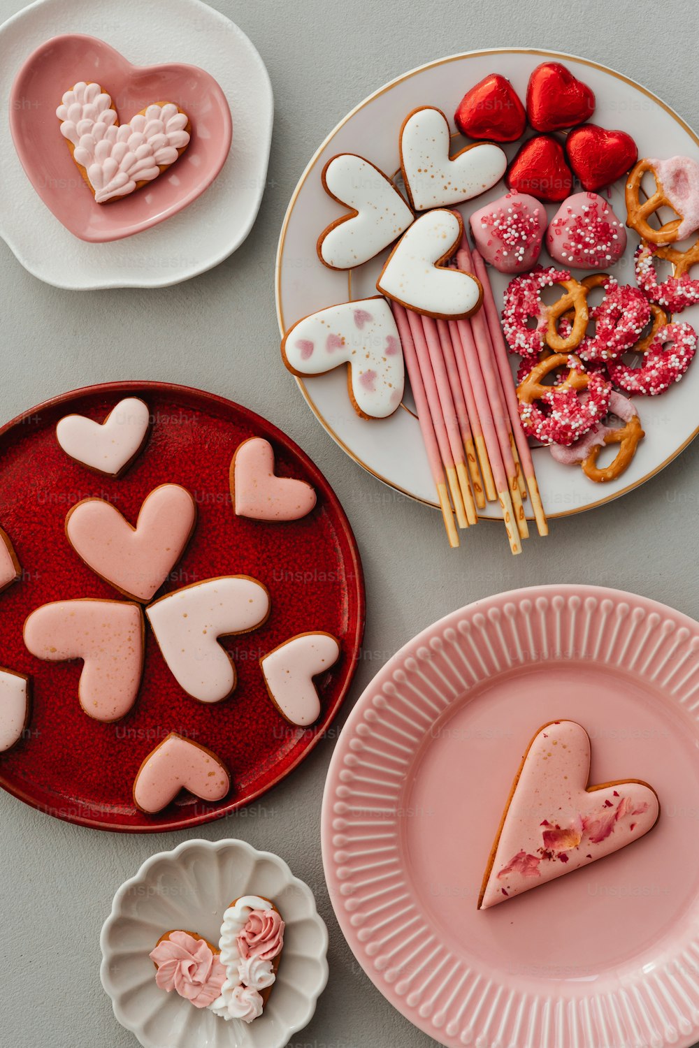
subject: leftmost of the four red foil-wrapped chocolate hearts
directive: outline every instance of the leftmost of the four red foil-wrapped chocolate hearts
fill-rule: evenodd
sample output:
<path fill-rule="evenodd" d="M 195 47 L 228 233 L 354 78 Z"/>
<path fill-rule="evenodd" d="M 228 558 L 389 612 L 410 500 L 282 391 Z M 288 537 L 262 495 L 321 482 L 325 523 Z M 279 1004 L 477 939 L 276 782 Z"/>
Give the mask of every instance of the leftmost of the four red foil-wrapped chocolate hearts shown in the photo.
<path fill-rule="evenodd" d="M 510 82 L 492 72 L 466 91 L 454 123 L 468 138 L 516 141 L 524 134 L 527 114 Z"/>

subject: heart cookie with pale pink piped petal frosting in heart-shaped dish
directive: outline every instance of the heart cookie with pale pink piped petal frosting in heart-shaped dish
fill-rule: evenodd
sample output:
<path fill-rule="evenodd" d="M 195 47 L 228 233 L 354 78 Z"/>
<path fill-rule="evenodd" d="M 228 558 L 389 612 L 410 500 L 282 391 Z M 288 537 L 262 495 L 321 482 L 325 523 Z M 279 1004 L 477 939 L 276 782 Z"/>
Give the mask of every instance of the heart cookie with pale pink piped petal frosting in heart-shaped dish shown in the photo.
<path fill-rule="evenodd" d="M 56 115 L 96 203 L 157 178 L 190 144 L 189 116 L 174 103 L 154 103 L 119 124 L 110 95 L 85 81 L 66 91 Z"/>

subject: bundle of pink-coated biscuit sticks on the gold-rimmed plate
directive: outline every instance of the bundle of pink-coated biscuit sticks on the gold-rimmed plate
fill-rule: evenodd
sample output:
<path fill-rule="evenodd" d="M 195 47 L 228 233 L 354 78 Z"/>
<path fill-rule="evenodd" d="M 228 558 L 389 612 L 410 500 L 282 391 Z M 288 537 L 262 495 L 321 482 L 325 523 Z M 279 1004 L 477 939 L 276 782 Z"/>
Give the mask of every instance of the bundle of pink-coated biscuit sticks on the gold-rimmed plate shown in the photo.
<path fill-rule="evenodd" d="M 489 277 L 465 233 L 456 264 L 483 288 L 471 316 L 433 320 L 391 306 L 450 544 L 459 545 L 455 514 L 459 527 L 468 527 L 486 500 L 497 501 L 509 547 L 520 553 L 529 536 L 527 493 L 540 534 L 548 534 L 548 524 Z"/>

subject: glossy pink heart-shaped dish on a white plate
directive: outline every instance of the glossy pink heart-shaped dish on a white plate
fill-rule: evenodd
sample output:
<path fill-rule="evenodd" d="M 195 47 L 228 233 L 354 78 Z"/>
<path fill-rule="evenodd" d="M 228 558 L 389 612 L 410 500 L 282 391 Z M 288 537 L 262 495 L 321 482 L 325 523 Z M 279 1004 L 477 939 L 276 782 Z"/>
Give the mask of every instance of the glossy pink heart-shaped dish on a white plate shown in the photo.
<path fill-rule="evenodd" d="M 107 205 L 95 203 L 56 115 L 79 81 L 99 83 L 123 123 L 151 103 L 176 103 L 192 124 L 187 151 L 153 182 Z M 140 233 L 196 200 L 223 167 L 233 135 L 226 97 L 205 70 L 180 63 L 134 66 L 104 41 L 80 34 L 54 37 L 25 61 L 10 91 L 9 128 L 46 206 L 73 236 L 92 243 Z"/>

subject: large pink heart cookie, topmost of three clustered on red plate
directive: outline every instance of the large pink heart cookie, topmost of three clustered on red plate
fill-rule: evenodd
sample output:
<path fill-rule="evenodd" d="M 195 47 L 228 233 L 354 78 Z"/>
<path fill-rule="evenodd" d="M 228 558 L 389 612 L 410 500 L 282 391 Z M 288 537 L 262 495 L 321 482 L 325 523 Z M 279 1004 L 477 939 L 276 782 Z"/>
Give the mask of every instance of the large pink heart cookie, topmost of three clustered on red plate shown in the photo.
<path fill-rule="evenodd" d="M 197 506 L 179 484 L 161 484 L 144 501 L 135 528 L 104 499 L 85 499 L 66 517 L 78 555 L 126 596 L 150 601 L 181 558 Z"/>

